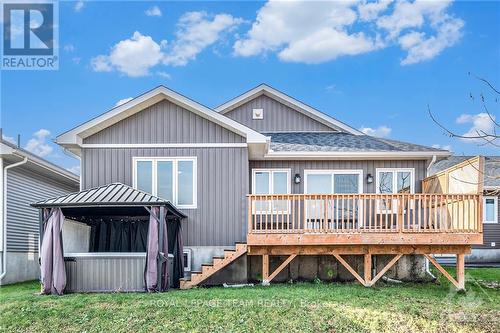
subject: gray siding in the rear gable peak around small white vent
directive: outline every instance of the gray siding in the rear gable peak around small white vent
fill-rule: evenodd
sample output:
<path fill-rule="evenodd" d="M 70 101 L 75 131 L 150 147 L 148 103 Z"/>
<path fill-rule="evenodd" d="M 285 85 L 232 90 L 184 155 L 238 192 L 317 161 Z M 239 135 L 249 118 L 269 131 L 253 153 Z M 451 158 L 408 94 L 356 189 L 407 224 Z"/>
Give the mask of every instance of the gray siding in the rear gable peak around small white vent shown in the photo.
<path fill-rule="evenodd" d="M 264 119 L 252 119 L 252 109 L 263 109 Z M 258 132 L 335 132 L 327 125 L 266 95 L 260 95 L 224 115 Z"/>

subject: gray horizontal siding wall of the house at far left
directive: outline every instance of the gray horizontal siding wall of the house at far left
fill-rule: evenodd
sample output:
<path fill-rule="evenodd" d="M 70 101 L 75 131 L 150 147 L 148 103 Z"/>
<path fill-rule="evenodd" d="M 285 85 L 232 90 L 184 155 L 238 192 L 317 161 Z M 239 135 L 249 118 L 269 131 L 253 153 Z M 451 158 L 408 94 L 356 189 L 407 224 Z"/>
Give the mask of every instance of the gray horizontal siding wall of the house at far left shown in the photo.
<path fill-rule="evenodd" d="M 78 187 L 58 183 L 23 167 L 7 174 L 7 250 L 38 252 L 38 209 L 31 203 L 78 191 Z"/>

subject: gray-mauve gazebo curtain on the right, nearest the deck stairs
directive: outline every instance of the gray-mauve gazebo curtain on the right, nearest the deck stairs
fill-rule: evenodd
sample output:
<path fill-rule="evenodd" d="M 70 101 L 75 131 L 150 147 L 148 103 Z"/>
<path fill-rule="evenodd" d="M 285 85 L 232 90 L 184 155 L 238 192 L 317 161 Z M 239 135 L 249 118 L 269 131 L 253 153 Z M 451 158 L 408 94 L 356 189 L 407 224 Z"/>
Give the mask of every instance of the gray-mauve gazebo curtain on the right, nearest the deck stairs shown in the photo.
<path fill-rule="evenodd" d="M 144 280 L 149 292 L 168 289 L 168 233 L 165 210 L 152 207 L 149 217 Z"/>

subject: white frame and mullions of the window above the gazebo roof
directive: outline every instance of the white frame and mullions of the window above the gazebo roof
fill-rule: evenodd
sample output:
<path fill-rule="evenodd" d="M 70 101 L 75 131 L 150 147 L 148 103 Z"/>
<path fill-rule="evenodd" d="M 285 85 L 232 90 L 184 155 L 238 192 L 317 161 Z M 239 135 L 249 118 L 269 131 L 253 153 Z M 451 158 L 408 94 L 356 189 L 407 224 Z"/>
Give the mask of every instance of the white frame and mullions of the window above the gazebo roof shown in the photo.
<path fill-rule="evenodd" d="M 196 156 L 175 156 L 175 157 L 132 157 L 132 168 L 133 168 L 133 187 L 137 189 L 137 162 L 151 162 L 152 163 L 152 195 L 158 196 L 157 192 L 157 162 L 171 161 L 173 167 L 173 180 L 172 180 L 172 191 L 173 199 L 172 204 L 180 209 L 196 209 L 198 202 L 198 158 Z M 193 204 L 192 205 L 179 205 L 178 201 L 178 163 L 179 161 L 192 161 L 193 162 Z"/>

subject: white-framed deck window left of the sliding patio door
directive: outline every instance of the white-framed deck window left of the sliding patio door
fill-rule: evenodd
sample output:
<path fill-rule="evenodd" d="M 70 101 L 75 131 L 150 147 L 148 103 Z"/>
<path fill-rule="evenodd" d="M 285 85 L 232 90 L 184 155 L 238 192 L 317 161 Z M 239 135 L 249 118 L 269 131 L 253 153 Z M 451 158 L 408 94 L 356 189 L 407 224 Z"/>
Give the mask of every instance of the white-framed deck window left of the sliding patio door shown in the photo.
<path fill-rule="evenodd" d="M 253 194 L 289 194 L 290 169 L 253 169 Z M 288 200 L 263 200 L 255 202 L 257 212 L 288 212 Z"/>

